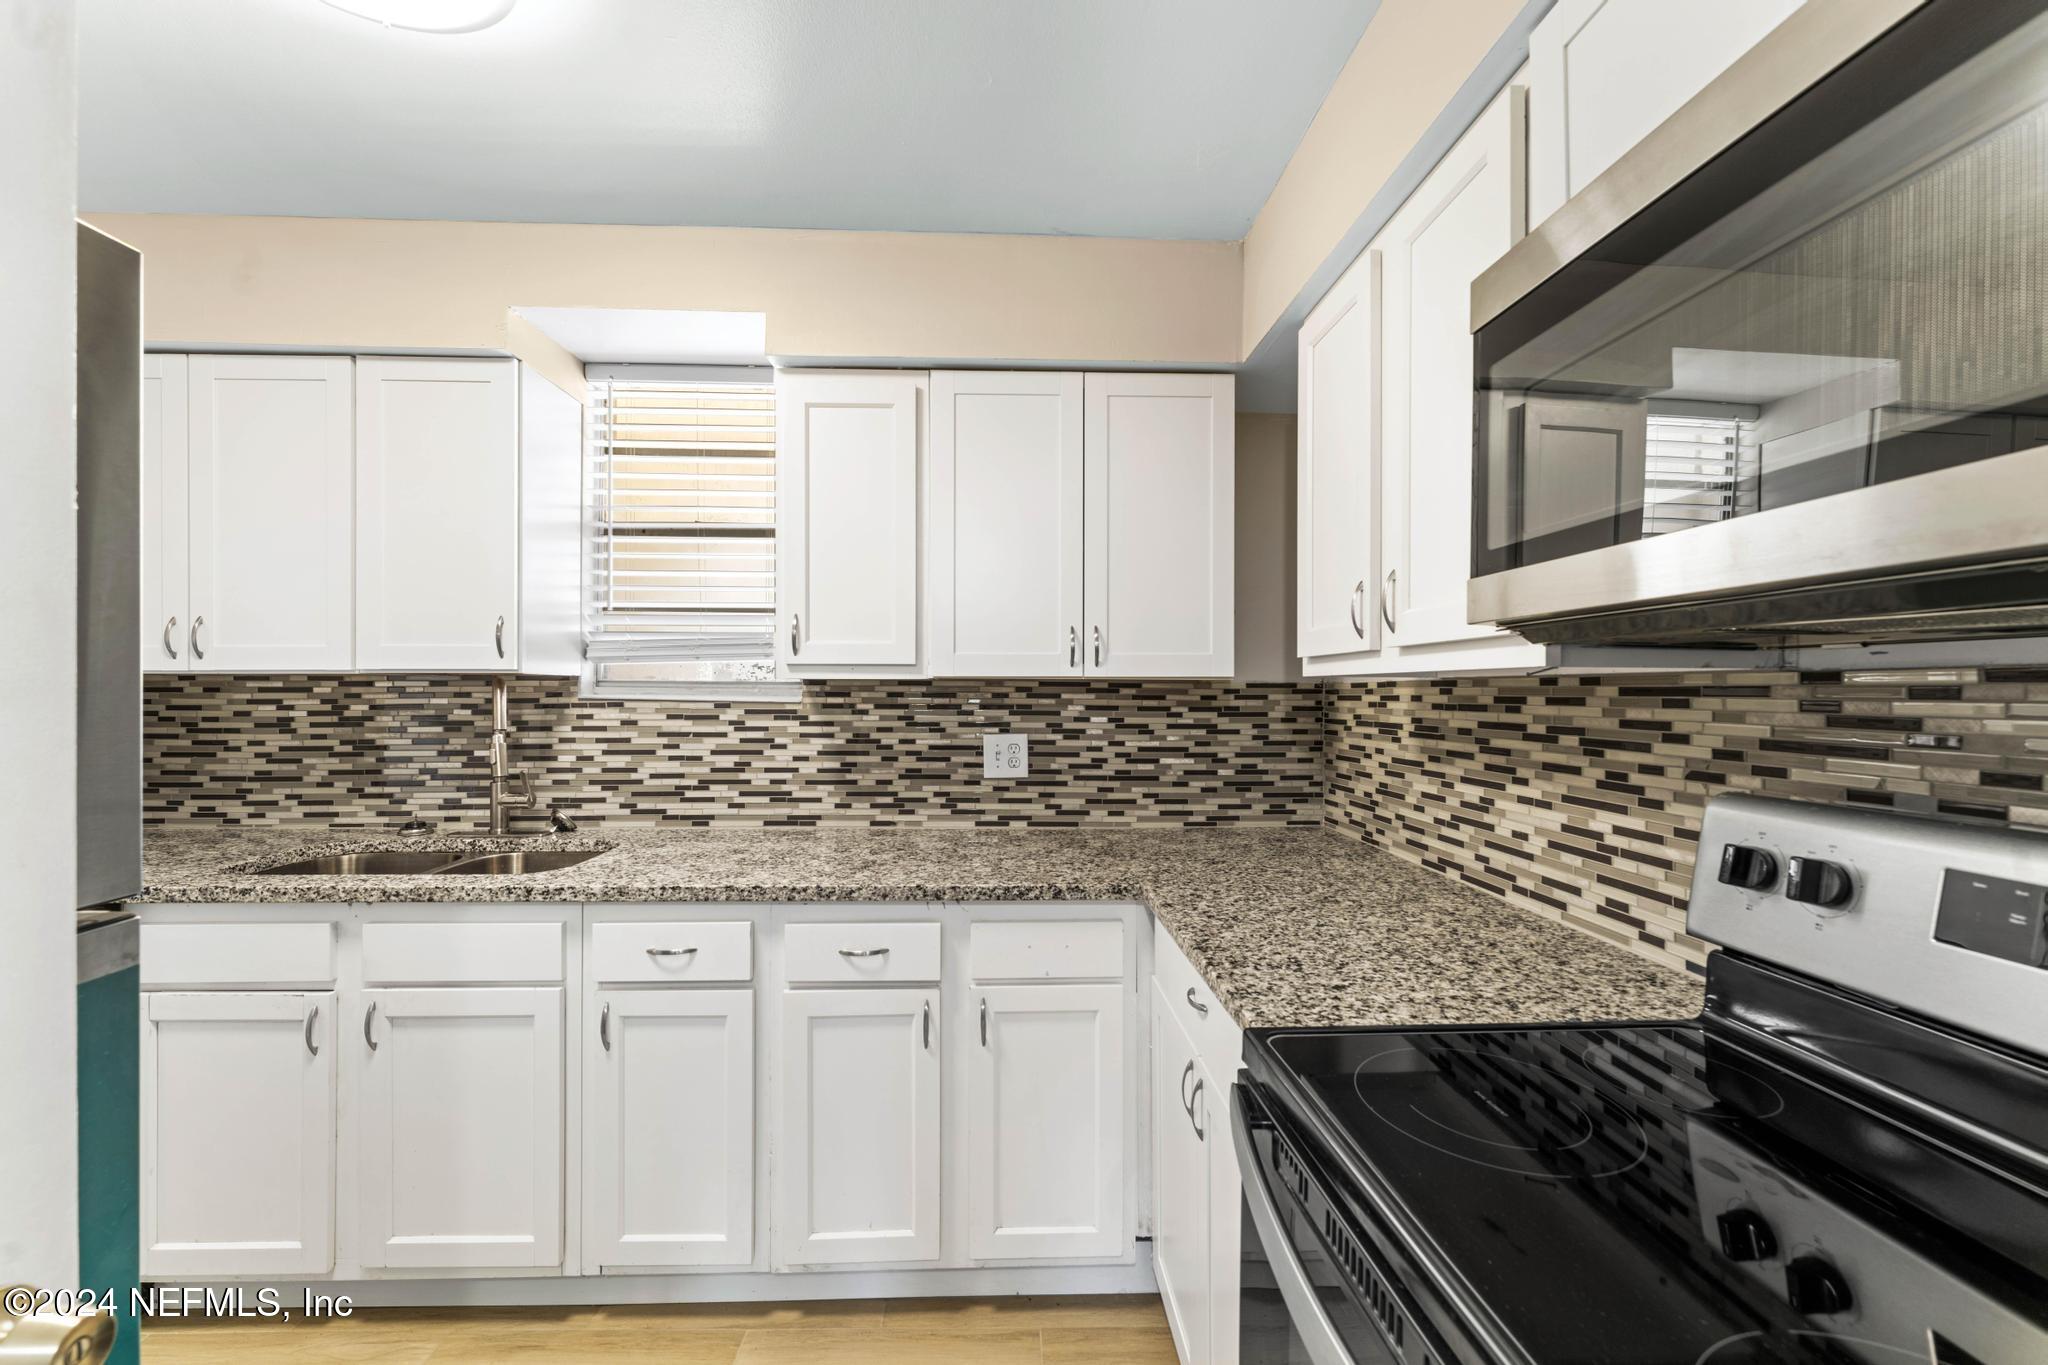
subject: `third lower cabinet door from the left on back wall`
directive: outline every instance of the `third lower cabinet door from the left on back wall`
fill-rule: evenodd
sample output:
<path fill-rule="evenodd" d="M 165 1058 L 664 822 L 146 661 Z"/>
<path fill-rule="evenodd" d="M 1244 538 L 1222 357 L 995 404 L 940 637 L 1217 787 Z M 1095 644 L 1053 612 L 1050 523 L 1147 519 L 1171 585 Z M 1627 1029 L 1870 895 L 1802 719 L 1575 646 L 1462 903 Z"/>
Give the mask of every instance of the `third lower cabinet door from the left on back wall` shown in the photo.
<path fill-rule="evenodd" d="M 604 990 L 586 1036 L 584 1259 L 754 1261 L 754 993 Z"/>

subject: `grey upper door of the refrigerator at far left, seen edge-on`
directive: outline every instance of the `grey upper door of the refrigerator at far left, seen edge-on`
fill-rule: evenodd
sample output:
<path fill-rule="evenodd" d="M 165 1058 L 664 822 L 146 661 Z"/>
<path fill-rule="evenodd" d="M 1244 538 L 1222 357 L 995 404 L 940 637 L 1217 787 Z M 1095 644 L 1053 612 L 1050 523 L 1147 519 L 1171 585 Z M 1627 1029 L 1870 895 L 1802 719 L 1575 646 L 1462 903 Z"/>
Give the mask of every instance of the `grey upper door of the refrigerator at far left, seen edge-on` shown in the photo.
<path fill-rule="evenodd" d="M 141 890 L 141 252 L 78 225 L 78 905 Z"/>

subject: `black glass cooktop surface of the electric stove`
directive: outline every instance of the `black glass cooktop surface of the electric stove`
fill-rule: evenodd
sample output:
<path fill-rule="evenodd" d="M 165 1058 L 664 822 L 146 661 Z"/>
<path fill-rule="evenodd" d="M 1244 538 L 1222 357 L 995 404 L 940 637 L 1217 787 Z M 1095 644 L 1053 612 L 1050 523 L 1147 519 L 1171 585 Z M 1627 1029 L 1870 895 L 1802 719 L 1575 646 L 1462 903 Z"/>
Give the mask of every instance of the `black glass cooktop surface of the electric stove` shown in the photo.
<path fill-rule="evenodd" d="M 1255 1031 L 1348 1203 L 1538 1365 L 2042 1365 L 2048 1197 L 1702 1025 Z"/>

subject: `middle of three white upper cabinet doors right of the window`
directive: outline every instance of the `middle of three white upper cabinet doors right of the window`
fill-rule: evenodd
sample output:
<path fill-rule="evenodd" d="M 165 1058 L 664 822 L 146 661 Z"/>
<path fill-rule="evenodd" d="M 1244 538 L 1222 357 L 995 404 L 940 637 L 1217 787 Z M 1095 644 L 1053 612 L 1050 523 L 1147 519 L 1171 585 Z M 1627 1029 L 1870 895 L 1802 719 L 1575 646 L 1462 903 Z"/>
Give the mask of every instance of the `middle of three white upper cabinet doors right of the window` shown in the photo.
<path fill-rule="evenodd" d="M 1081 377 L 932 375 L 932 671 L 1081 671 Z"/>

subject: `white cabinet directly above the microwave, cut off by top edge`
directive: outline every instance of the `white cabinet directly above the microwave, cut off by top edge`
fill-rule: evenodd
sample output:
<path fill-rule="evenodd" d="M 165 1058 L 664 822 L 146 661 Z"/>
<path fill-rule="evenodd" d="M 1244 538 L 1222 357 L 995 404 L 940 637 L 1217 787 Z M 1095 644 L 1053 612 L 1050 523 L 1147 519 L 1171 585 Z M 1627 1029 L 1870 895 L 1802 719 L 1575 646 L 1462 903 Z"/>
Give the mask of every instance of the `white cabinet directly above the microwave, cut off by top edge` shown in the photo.
<path fill-rule="evenodd" d="M 1559 0 L 1530 33 L 1530 221 L 1634 147 L 1802 0 Z"/>

